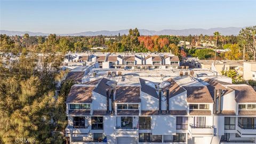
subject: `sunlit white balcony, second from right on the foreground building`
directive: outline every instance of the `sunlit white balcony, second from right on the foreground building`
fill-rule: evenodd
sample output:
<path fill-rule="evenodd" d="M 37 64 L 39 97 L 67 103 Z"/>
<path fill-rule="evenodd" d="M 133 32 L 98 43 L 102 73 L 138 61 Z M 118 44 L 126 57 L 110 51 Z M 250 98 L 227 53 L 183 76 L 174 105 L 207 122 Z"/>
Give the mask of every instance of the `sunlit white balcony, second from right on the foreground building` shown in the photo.
<path fill-rule="evenodd" d="M 193 125 L 190 124 L 189 132 L 192 137 L 212 137 L 214 134 L 214 129 L 212 125 Z"/>

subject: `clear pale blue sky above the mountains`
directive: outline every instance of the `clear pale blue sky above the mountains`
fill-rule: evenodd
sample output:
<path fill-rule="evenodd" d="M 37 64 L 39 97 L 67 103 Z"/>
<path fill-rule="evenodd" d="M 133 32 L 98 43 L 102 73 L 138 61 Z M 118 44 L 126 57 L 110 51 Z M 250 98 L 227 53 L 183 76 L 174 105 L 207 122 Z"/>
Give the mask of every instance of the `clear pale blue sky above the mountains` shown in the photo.
<path fill-rule="evenodd" d="M 43 33 L 256 25 L 256 1 L 2 1 L 0 29 Z"/>

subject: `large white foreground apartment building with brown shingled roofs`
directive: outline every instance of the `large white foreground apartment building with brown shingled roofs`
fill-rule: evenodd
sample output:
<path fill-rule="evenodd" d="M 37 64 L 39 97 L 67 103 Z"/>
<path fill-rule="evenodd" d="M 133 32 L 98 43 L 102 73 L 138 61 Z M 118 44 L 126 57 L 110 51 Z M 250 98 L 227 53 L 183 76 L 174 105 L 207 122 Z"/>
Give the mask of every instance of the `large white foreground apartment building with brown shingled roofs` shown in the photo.
<path fill-rule="evenodd" d="M 97 69 L 73 85 L 66 101 L 70 143 L 255 143 L 251 86 L 145 73 Z"/>

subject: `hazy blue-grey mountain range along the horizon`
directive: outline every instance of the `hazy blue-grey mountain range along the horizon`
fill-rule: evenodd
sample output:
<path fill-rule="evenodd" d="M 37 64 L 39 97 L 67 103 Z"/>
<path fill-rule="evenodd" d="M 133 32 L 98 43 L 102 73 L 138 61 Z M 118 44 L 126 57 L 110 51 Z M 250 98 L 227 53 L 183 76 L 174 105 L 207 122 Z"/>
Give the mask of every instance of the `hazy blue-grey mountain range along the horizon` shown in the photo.
<path fill-rule="evenodd" d="M 215 31 L 219 31 L 221 35 L 238 35 L 239 31 L 244 27 L 228 27 L 228 28 L 210 28 L 210 29 L 201 29 L 201 28 L 191 28 L 191 29 L 182 29 L 182 30 L 174 30 L 174 29 L 164 29 L 160 31 L 155 30 L 147 30 L 147 29 L 139 29 L 140 35 L 213 35 Z M 109 30 L 100 30 L 100 31 L 85 31 L 81 33 L 74 34 L 57 34 L 59 36 L 97 36 L 97 35 L 118 35 L 120 33 L 128 34 L 129 29 L 109 31 Z M 0 34 L 6 34 L 9 36 L 13 35 L 23 35 L 29 34 L 30 36 L 47 36 L 47 33 L 35 33 L 31 31 L 9 31 L 9 30 L 0 30 Z"/>

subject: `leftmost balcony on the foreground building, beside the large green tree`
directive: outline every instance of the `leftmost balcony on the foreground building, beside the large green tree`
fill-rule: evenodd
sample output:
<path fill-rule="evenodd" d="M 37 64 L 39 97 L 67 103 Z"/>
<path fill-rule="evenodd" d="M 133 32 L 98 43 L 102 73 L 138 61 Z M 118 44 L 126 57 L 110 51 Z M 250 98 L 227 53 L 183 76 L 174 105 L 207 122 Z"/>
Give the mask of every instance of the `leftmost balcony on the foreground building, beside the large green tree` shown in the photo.
<path fill-rule="evenodd" d="M 85 127 L 66 127 L 66 137 L 87 137 L 91 130 L 91 126 L 87 125 Z"/>

